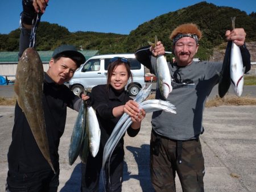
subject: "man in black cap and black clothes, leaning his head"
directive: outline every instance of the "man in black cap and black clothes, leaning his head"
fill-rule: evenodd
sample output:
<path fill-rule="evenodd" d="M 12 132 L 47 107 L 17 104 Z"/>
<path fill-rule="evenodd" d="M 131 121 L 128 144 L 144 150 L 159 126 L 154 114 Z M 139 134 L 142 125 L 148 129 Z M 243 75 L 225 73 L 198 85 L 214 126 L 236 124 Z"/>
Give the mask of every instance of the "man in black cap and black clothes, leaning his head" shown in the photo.
<path fill-rule="evenodd" d="M 29 39 L 28 39 L 29 40 Z M 24 47 L 25 48 L 25 47 Z M 53 52 L 49 69 L 44 73 L 43 110 L 49 153 L 56 174 L 42 155 L 26 116 L 18 103 L 12 141 L 8 152 L 9 171 L 6 191 L 57 191 L 59 186 L 59 143 L 67 117 L 67 107 L 79 111 L 82 99 L 73 94 L 64 82 L 69 81 L 85 57 L 72 45 L 61 45 Z"/>

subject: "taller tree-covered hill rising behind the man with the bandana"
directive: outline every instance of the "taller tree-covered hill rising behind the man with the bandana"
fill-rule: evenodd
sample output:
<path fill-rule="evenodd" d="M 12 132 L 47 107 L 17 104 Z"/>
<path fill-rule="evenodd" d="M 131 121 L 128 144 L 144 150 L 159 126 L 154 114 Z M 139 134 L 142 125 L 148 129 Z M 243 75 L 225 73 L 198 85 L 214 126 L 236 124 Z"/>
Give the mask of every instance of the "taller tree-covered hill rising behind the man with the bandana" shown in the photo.
<path fill-rule="evenodd" d="M 236 16 L 236 28 L 245 28 L 246 41 L 256 40 L 256 17 L 255 13 L 247 15 L 246 12 L 232 7 L 216 6 L 212 3 L 200 2 L 193 6 L 188 6 L 174 12 L 160 15 L 146 23 L 141 24 L 137 29 L 131 31 L 126 38 L 128 51 L 147 45 L 147 41 L 154 41 L 154 36 L 158 36 L 166 47 L 172 49 L 172 42 L 169 36 L 179 24 L 195 23 L 203 32 L 200 41 L 200 49 L 197 57 L 208 59 L 212 54 L 213 47 L 225 41 L 225 31 L 231 29 L 231 17 Z M 205 55 L 205 53 L 207 53 Z"/>

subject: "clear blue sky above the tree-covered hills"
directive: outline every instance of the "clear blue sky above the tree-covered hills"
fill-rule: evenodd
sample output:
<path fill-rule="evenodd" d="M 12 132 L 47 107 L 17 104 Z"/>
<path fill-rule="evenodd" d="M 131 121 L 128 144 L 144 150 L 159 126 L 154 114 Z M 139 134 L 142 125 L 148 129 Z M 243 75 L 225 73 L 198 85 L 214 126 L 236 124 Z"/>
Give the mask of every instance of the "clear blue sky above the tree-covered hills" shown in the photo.
<path fill-rule="evenodd" d="M 0 1 L 0 34 L 19 27 L 19 14 L 22 11 L 21 0 Z M 70 32 L 94 31 L 129 34 L 140 24 L 156 16 L 195 5 L 201 1 L 186 0 L 49 0 L 42 21 L 57 23 Z M 217 6 L 228 6 L 256 12 L 255 0 L 207 1 Z"/>

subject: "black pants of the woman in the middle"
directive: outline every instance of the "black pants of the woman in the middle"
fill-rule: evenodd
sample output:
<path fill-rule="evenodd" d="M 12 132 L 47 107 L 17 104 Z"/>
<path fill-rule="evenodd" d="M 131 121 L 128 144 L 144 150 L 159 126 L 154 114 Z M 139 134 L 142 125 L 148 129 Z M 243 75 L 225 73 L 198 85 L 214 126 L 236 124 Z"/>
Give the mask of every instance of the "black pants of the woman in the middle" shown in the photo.
<path fill-rule="evenodd" d="M 123 146 L 115 148 L 110 161 L 105 165 L 106 191 L 122 191 L 123 182 L 123 157 L 125 152 Z M 98 191 L 100 183 L 100 172 L 102 166 L 103 148 L 100 147 L 96 157 L 88 156 L 86 164 L 82 164 L 81 191 Z M 109 172 L 110 169 L 110 172 Z"/>

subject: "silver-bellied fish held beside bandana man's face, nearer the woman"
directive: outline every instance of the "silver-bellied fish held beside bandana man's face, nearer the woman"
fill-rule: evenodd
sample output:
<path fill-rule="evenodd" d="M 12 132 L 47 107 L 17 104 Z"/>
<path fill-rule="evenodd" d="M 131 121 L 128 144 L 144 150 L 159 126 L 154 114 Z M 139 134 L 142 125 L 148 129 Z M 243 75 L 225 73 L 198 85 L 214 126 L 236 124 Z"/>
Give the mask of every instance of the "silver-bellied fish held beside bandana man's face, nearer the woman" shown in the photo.
<path fill-rule="evenodd" d="M 155 47 L 157 42 L 158 37 L 155 36 L 155 43 L 148 41 L 148 44 Z M 158 55 L 156 57 L 156 78 L 160 93 L 163 95 L 164 99 L 167 99 L 168 95 L 172 91 L 172 85 L 170 70 L 168 68 L 166 58 L 163 55 Z"/>

